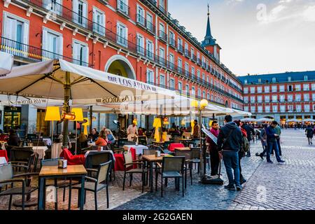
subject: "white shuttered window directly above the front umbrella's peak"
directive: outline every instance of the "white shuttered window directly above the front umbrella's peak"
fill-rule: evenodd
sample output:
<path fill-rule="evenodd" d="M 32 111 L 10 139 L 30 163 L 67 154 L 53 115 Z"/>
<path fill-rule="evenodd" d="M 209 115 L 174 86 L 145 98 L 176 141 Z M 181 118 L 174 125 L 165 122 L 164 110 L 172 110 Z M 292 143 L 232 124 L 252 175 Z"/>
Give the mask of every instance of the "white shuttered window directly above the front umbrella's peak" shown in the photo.
<path fill-rule="evenodd" d="M 55 59 L 62 57 L 63 54 L 63 38 L 51 29 L 43 27 L 43 57 L 46 59 Z"/>

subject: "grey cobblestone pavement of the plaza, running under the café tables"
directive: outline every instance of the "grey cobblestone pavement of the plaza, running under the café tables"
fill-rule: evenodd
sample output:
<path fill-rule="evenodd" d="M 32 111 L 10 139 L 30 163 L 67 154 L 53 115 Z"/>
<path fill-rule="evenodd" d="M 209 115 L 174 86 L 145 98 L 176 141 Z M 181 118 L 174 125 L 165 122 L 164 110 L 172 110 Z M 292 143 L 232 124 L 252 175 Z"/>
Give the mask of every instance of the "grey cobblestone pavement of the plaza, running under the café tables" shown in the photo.
<path fill-rule="evenodd" d="M 279 165 L 274 157 L 270 165 L 255 156 L 261 152 L 260 141 L 251 145 L 251 158 L 241 160 L 242 172 L 247 182 L 240 192 L 225 190 L 223 186 L 210 186 L 199 183 L 197 171 L 193 172 L 193 186 L 188 185 L 185 197 L 177 192 L 174 181 L 164 188 L 164 197 L 158 192 L 141 193 L 141 176 L 135 175 L 132 186 L 129 178 L 123 191 L 123 172 L 116 173 L 116 180 L 110 183 L 110 208 L 118 210 L 265 210 L 265 209 L 315 209 L 315 146 L 309 146 L 302 130 L 283 130 L 282 153 L 286 164 Z M 223 180 L 227 183 L 225 167 L 222 167 Z M 189 176 L 189 175 L 188 175 Z M 159 179 L 160 180 L 160 179 Z M 37 180 L 34 180 L 36 184 Z M 66 201 L 62 202 L 62 190 L 58 191 L 58 209 L 68 209 L 68 190 Z M 37 196 L 37 192 L 32 195 Z M 13 197 L 13 201 L 20 197 Z M 77 190 L 72 193 L 71 209 L 78 209 Z M 0 197 L 0 210 L 8 209 L 8 197 Z M 12 209 L 20 209 L 12 207 Z M 37 209 L 30 207 L 27 209 Z M 47 203 L 46 209 L 54 209 Z M 87 193 L 85 209 L 94 209 L 94 195 Z M 98 209 L 106 209 L 106 193 L 98 193 Z"/>

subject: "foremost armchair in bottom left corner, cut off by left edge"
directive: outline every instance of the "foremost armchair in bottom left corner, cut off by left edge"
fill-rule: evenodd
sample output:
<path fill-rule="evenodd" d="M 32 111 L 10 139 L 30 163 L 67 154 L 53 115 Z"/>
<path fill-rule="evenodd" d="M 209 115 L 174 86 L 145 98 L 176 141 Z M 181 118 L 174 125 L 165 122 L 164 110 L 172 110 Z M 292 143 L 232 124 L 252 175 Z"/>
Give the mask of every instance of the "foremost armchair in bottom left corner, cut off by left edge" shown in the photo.
<path fill-rule="evenodd" d="M 11 163 L 0 165 L 0 197 L 10 195 L 8 210 L 11 209 L 12 196 L 22 195 L 22 210 L 25 209 L 25 195 L 30 195 L 37 187 L 31 187 L 27 184 L 27 181 L 31 176 L 38 176 L 38 173 L 26 173 L 13 175 L 13 167 Z M 14 183 L 22 183 L 22 187 L 14 187 Z M 10 188 L 7 186 L 10 184 Z M 6 186 L 6 190 L 1 191 L 3 186 Z"/>

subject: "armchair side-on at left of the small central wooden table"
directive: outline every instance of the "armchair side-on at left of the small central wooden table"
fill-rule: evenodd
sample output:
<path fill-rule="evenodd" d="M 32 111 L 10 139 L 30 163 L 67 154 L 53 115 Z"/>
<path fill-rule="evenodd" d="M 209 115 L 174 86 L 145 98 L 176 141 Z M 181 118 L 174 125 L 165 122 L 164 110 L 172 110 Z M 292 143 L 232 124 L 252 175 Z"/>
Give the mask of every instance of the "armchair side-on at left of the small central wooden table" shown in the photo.
<path fill-rule="evenodd" d="M 141 160 L 133 160 L 132 159 L 132 153 L 124 153 L 124 181 L 123 181 L 123 190 L 125 190 L 125 181 L 126 181 L 126 174 L 130 174 L 130 187 L 132 186 L 132 174 L 141 174 L 142 179 L 142 193 L 144 193 L 144 183 L 145 183 L 145 174 L 148 172 L 145 169 L 144 162 Z M 130 169 L 134 165 L 142 165 L 142 169 Z"/>

